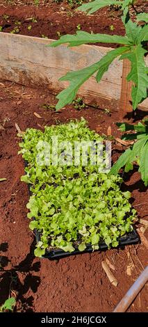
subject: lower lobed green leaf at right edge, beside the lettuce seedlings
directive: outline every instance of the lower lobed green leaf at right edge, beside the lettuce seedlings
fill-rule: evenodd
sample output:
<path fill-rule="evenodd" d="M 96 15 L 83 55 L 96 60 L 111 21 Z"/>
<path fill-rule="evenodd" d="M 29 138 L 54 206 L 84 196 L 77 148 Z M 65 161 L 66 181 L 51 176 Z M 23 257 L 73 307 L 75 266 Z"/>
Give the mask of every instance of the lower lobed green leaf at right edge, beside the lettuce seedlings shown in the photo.
<path fill-rule="evenodd" d="M 117 175 L 120 168 L 124 167 L 125 172 L 133 169 L 133 161 L 136 161 L 139 166 L 141 178 L 148 185 L 148 120 L 138 125 L 129 125 L 127 123 L 117 123 L 121 131 L 134 131 L 133 134 L 124 134 L 122 138 L 125 140 L 136 140 L 117 160 L 111 168 L 109 175 Z"/>

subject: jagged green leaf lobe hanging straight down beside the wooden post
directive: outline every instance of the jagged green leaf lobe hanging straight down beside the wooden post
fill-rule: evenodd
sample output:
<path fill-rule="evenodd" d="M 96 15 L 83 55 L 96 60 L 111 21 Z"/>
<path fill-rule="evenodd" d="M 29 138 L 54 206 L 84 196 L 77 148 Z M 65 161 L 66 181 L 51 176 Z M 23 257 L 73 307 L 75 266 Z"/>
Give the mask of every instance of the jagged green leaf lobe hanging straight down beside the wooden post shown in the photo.
<path fill-rule="evenodd" d="M 132 88 L 133 110 L 135 110 L 138 104 L 142 102 L 142 99 L 147 97 L 148 76 L 144 60 L 146 52 L 147 50 L 139 44 L 131 47 L 129 52 L 120 57 L 120 59 L 127 58 L 131 61 L 131 72 L 129 73 L 127 80 L 135 83 L 135 86 Z"/>

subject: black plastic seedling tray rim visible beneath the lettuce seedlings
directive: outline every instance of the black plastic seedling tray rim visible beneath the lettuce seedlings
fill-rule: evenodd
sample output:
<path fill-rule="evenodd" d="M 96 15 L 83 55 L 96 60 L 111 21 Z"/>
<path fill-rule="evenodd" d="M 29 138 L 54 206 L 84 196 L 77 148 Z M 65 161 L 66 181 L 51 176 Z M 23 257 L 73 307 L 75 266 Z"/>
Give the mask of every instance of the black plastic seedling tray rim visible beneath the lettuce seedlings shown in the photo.
<path fill-rule="evenodd" d="M 35 230 L 35 237 L 36 237 L 36 241 L 40 241 L 40 232 L 37 232 Z M 127 233 L 124 236 L 120 237 L 119 245 L 117 246 L 117 248 L 122 248 L 130 244 L 137 244 L 139 241 L 140 238 L 138 236 L 138 233 L 133 229 L 132 232 Z M 99 249 L 95 251 L 101 251 L 101 250 L 108 250 L 108 246 L 105 244 L 105 242 L 100 243 Z M 82 253 L 91 253 L 93 251 L 94 250 L 92 249 L 92 246 L 88 244 L 88 246 L 86 246 L 84 251 L 79 251 L 79 249 L 76 249 L 72 253 L 69 253 L 61 250 L 60 248 L 56 248 L 56 249 L 47 250 L 45 255 L 43 255 L 42 257 L 54 260 L 54 259 L 60 259 L 62 257 L 67 257 L 69 255 L 80 255 Z"/>

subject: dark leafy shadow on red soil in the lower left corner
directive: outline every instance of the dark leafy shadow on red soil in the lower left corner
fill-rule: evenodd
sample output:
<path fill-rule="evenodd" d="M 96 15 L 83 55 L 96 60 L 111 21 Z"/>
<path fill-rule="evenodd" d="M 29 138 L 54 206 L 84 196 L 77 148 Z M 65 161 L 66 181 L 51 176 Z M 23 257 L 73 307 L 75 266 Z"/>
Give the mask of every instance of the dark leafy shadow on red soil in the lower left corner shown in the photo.
<path fill-rule="evenodd" d="M 30 253 L 26 255 L 26 258 L 14 266 L 12 269 L 6 270 L 8 265 L 8 257 L 5 255 L 0 256 L 0 305 L 2 305 L 11 294 L 16 294 L 16 301 L 20 304 L 20 311 L 31 312 L 33 311 L 33 296 L 25 297 L 26 292 L 29 289 L 33 293 L 37 292 L 40 285 L 40 278 L 38 276 L 32 276 L 32 272 L 40 271 L 40 262 L 35 262 L 34 259 L 35 241 L 31 244 Z M 0 251 L 6 252 L 8 250 L 8 244 L 0 244 Z"/>

